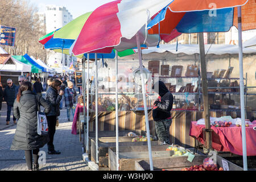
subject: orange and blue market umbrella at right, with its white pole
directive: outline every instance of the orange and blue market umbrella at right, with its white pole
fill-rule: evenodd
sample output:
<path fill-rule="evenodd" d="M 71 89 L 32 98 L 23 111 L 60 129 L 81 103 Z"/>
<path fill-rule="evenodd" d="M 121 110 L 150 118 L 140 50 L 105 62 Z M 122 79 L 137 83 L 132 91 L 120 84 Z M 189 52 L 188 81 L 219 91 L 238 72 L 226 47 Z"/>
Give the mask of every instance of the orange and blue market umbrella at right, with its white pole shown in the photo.
<path fill-rule="evenodd" d="M 241 7 L 242 6 L 242 7 Z M 246 138 L 245 138 L 245 104 L 242 64 L 242 30 L 256 28 L 256 2 L 241 1 L 184 1 L 175 0 L 148 24 L 150 34 L 170 34 L 176 28 L 183 33 L 226 32 L 230 27 L 238 27 L 239 60 L 240 60 L 240 101 L 242 118 L 243 167 L 247 170 Z M 242 17 L 241 18 L 241 13 Z M 176 21 L 171 21 L 176 19 Z M 238 22 L 238 23 L 237 23 Z M 202 38 L 203 39 L 203 36 Z M 204 47 L 200 54 L 204 55 Z M 203 69 L 203 66 L 202 66 Z M 206 69 L 206 68 L 205 68 Z M 206 77 L 206 76 L 205 76 Z M 206 90 L 207 92 L 207 90 Z"/>

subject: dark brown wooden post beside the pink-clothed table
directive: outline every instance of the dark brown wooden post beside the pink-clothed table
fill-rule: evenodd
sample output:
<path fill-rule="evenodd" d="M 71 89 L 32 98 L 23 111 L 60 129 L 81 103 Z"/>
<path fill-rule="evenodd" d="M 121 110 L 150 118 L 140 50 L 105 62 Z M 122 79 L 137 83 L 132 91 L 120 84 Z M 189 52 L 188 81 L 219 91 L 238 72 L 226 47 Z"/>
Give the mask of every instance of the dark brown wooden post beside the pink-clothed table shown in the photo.
<path fill-rule="evenodd" d="M 200 48 L 200 60 L 201 60 L 201 77 L 202 77 L 202 90 L 203 90 L 203 102 L 204 102 L 204 119 L 205 119 L 205 139 L 206 147 L 209 151 L 212 148 L 212 133 L 210 129 L 210 114 L 209 114 L 209 100 L 208 100 L 208 85 L 207 85 L 207 68 L 205 64 L 205 50 L 204 50 L 204 34 L 199 35 L 199 48 Z M 209 131 L 209 132 L 208 132 Z"/>

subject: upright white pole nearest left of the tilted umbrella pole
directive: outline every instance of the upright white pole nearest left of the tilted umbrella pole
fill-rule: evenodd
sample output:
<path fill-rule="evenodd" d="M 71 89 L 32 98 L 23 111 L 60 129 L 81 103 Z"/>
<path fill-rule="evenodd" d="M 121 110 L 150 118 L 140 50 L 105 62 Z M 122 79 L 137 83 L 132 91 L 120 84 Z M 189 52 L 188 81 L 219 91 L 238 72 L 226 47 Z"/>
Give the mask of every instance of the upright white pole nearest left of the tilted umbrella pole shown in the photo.
<path fill-rule="evenodd" d="M 115 50 L 115 145 L 117 154 L 117 171 L 119 171 L 119 146 L 118 146 L 118 52 Z"/>

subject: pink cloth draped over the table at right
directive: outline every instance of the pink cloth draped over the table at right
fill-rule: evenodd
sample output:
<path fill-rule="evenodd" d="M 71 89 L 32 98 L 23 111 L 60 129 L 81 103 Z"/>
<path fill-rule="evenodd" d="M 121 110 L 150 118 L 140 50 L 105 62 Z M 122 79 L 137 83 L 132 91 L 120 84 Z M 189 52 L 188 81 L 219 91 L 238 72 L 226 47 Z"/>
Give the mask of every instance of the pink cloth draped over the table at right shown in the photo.
<path fill-rule="evenodd" d="M 246 150 L 247 156 L 256 156 L 256 120 L 246 128 Z M 191 122 L 189 135 L 195 137 L 204 144 L 203 129 L 205 125 L 197 125 L 196 121 Z M 233 154 L 243 155 L 242 152 L 242 127 L 230 125 L 230 127 L 215 127 L 212 129 L 212 147 L 217 151 L 229 151 Z"/>

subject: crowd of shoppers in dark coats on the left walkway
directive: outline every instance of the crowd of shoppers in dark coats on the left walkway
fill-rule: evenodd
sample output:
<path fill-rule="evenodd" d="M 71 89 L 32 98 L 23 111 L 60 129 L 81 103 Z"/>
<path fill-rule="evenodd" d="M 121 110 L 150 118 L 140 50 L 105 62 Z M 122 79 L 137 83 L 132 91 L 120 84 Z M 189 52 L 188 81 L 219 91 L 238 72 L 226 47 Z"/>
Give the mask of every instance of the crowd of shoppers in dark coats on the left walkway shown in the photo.
<path fill-rule="evenodd" d="M 55 150 L 53 140 L 58 125 L 60 109 L 65 103 L 68 121 L 71 113 L 74 117 L 76 104 L 76 90 L 69 77 L 48 78 L 45 97 L 42 96 L 43 85 L 40 78 L 36 82 L 28 81 L 24 76 L 18 77 L 19 85 L 16 86 L 11 78 L 3 88 L 0 82 L 0 110 L 2 101 L 7 104 L 6 125 L 11 120 L 13 109 L 13 122 L 17 124 L 11 150 L 24 150 L 28 170 L 39 170 L 39 151 L 47 144 L 48 154 L 61 154 Z M 43 136 L 38 131 L 38 111 L 44 107 L 48 123 L 48 135 Z M 34 162 L 33 162 L 34 159 Z"/>

